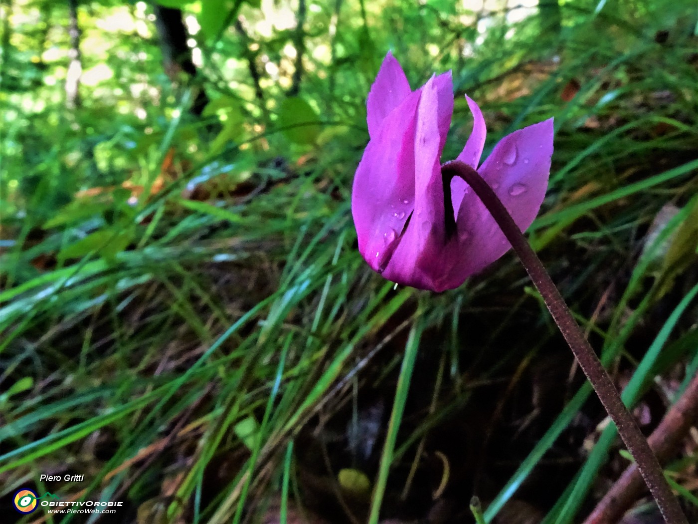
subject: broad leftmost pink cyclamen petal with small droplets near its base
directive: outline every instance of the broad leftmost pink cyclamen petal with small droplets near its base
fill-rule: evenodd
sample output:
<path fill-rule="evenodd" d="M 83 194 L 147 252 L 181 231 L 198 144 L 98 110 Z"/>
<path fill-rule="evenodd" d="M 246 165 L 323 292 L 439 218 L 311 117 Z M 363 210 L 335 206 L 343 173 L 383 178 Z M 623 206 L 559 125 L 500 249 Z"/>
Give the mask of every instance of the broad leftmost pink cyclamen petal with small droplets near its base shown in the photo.
<path fill-rule="evenodd" d="M 352 187 L 352 217 L 359 252 L 373 270 L 387 263 L 400 242 L 415 202 L 415 126 L 421 92 L 385 118 L 369 141 Z"/>

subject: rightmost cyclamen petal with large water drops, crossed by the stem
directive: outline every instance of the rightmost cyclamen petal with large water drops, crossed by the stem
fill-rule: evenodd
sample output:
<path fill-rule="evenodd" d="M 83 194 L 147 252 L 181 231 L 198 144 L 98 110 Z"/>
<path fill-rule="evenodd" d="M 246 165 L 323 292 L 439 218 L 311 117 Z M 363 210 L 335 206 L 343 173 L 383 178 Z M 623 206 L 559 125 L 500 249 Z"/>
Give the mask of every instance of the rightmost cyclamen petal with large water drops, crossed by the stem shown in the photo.
<path fill-rule="evenodd" d="M 505 136 L 477 170 L 521 231 L 526 231 L 540 210 L 552 154 L 553 119 L 548 119 Z M 464 254 L 458 270 L 465 277 L 496 261 L 511 247 L 473 191 L 463 197 L 456 227 Z"/>

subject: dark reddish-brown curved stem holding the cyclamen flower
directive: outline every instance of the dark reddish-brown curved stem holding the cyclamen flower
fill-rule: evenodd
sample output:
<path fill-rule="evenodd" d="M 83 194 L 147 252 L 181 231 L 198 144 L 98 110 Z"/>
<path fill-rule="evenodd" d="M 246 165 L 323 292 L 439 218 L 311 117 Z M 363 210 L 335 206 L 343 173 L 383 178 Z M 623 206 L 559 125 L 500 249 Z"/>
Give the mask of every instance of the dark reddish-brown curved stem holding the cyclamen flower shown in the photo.
<path fill-rule="evenodd" d="M 662 516 L 668 524 L 688 524 L 681 507 L 678 505 L 674 493 L 669 488 L 667 480 L 657 458 L 644 435 L 637 427 L 634 419 L 621 400 L 616 387 L 611 381 L 599 358 L 586 341 L 584 334 L 572 318 L 572 313 L 567 308 L 565 300 L 551 280 L 542 262 L 538 259 L 528 241 L 523 236 L 517 224 L 514 223 L 503 203 L 496 196 L 482 177 L 473 168 L 461 161 L 445 163 L 442 168 L 444 180 L 450 180 L 453 176 L 461 177 L 475 191 L 487 210 L 491 213 L 505 237 L 511 243 L 517 256 L 526 268 L 528 276 L 535 284 L 540 295 L 545 301 L 555 323 L 563 334 L 567 344 L 572 349 L 574 357 L 579 362 L 579 367 L 586 374 L 591 386 L 604 405 L 604 409 L 618 428 L 625 446 L 637 463 L 637 468 L 642 475 L 647 487 L 652 493 L 657 505 L 662 511 Z"/>

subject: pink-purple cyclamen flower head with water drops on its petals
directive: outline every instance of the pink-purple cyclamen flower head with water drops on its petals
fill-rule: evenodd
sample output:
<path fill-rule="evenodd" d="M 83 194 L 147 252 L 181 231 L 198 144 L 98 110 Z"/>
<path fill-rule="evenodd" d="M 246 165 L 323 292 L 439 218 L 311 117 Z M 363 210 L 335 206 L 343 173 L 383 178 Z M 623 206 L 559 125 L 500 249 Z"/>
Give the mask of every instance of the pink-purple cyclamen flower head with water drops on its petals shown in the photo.
<path fill-rule="evenodd" d="M 456 160 L 477 170 L 525 231 L 547 189 L 553 119 L 505 136 L 478 167 L 485 124 L 477 104 L 466 99 L 475 122 Z M 440 157 L 453 114 L 451 72 L 413 92 L 388 53 L 366 105 L 371 139 L 352 188 L 359 252 L 392 282 L 454 289 L 511 245 L 466 182 L 454 177 L 444 187 Z M 449 213 L 455 228 L 447 224 Z"/>

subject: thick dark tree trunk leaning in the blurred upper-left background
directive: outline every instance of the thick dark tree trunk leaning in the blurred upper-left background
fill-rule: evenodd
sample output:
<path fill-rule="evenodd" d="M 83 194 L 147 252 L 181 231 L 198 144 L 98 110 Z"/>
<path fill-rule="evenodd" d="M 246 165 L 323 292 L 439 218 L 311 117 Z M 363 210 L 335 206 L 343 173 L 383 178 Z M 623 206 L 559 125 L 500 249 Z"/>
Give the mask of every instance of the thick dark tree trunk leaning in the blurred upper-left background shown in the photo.
<path fill-rule="evenodd" d="M 172 82 L 177 82 L 180 73 L 184 73 L 188 80 L 195 81 L 197 70 L 191 59 L 191 49 L 186 45 L 188 34 L 181 17 L 181 10 L 155 4 L 154 12 L 165 73 Z M 199 86 L 191 112 L 201 116 L 207 103 L 209 103 L 208 96 L 203 87 Z"/>

